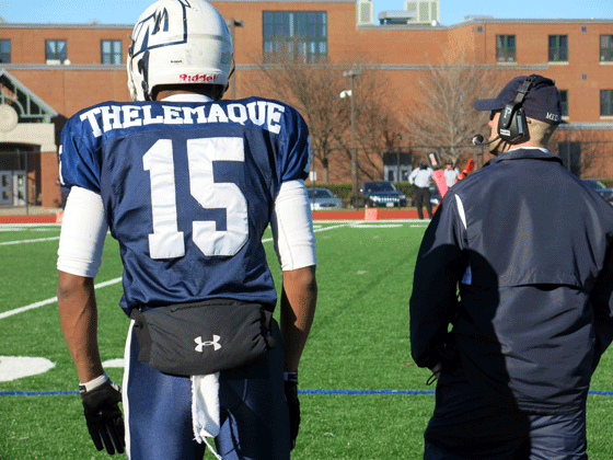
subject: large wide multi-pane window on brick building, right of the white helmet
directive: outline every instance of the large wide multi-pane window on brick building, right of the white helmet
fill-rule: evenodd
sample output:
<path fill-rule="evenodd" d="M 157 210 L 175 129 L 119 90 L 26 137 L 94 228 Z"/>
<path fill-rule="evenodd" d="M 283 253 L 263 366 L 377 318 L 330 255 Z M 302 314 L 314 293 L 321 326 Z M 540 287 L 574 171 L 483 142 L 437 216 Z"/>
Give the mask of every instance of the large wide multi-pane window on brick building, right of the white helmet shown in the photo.
<path fill-rule="evenodd" d="M 302 62 L 327 61 L 325 11 L 264 11 L 263 25 L 267 61 L 279 54 Z"/>

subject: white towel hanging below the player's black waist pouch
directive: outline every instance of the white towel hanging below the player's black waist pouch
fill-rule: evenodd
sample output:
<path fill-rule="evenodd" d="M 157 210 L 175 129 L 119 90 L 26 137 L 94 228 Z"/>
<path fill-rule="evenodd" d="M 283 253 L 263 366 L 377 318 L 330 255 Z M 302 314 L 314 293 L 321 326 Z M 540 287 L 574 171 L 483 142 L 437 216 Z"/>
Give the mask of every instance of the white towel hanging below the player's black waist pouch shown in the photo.
<path fill-rule="evenodd" d="M 219 372 L 192 376 L 192 423 L 196 440 L 222 460 L 207 439 L 219 435 Z"/>

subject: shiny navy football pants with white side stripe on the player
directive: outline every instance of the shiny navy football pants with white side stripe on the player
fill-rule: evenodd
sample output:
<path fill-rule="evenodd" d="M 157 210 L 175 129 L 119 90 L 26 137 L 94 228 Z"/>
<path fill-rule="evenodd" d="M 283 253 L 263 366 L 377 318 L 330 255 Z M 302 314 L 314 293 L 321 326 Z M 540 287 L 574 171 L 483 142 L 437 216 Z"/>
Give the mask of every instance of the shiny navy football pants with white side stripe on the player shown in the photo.
<path fill-rule="evenodd" d="M 216 438 L 223 460 L 289 459 L 289 411 L 284 392 L 284 350 L 277 347 L 256 363 L 220 372 L 220 423 Z M 201 460 L 206 445 L 194 440 L 192 380 L 161 373 L 140 363 L 136 334 L 126 343 L 124 415 L 129 460 Z"/>

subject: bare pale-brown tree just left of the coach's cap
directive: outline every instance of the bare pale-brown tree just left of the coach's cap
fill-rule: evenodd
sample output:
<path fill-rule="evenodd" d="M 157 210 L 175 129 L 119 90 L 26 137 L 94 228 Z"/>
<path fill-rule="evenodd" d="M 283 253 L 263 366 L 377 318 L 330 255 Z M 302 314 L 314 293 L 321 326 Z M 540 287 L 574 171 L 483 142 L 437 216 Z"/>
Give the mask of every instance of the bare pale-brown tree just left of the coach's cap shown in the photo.
<path fill-rule="evenodd" d="M 406 113 L 406 128 L 415 146 L 448 147 L 441 160 L 454 163 L 463 153 L 472 156 L 475 133 L 489 133 L 487 118 L 473 108 L 477 99 L 495 97 L 499 73 L 460 60 L 429 66 L 418 79 L 417 97 Z"/>

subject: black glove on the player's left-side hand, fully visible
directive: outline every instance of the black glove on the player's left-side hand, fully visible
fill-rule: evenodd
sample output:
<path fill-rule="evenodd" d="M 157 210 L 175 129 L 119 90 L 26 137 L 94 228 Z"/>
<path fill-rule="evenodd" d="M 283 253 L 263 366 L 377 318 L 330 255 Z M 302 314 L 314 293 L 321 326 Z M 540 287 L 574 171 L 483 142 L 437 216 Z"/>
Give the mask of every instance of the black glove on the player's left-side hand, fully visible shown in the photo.
<path fill-rule="evenodd" d="M 106 448 L 109 455 L 115 451 L 124 453 L 124 418 L 117 405 L 122 401 L 119 387 L 106 380 L 90 391 L 85 391 L 85 387 L 80 384 L 79 391 L 85 409 L 88 429 L 96 449 Z"/>

